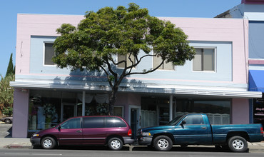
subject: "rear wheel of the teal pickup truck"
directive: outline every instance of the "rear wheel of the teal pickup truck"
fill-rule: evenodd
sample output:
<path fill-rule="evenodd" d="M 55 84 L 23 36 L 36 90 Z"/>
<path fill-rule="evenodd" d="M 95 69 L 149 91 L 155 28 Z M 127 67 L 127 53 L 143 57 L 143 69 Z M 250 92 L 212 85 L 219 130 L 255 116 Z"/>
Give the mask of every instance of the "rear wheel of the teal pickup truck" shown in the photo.
<path fill-rule="evenodd" d="M 241 136 L 233 136 L 229 138 L 228 146 L 233 152 L 245 152 L 248 150 L 248 142 Z"/>

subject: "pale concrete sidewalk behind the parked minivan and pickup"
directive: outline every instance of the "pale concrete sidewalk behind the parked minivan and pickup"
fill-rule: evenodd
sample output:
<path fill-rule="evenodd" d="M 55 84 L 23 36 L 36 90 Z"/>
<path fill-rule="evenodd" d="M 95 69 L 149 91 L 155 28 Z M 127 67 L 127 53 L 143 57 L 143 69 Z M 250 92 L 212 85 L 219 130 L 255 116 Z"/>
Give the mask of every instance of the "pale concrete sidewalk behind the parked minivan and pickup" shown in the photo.
<path fill-rule="evenodd" d="M 129 150 L 132 151 L 135 147 L 141 146 L 129 146 Z M 193 145 L 190 147 L 212 148 L 214 146 Z M 29 138 L 0 138 L 0 149 L 1 148 L 33 148 L 33 146 L 31 145 Z M 249 152 L 263 153 L 264 141 L 259 143 L 248 143 L 248 148 Z"/>

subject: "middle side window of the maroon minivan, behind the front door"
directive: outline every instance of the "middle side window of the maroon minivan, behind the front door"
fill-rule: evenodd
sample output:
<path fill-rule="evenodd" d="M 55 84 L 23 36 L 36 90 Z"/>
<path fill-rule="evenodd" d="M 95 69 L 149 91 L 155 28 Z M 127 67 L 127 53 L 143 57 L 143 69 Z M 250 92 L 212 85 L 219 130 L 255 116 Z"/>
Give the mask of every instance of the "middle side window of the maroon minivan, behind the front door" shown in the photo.
<path fill-rule="evenodd" d="M 83 118 L 83 128 L 104 128 L 104 117 L 85 117 Z"/>

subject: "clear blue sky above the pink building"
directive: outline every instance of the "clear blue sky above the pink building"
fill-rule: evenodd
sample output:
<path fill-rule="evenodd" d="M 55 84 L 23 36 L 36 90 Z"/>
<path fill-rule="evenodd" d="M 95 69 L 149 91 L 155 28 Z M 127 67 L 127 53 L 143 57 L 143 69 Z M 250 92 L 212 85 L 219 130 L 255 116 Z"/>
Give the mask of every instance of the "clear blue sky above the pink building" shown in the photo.
<path fill-rule="evenodd" d="M 213 18 L 241 3 L 241 0 L 0 0 L 0 74 L 6 75 L 13 53 L 16 63 L 17 14 L 73 14 L 98 11 L 105 6 L 129 3 L 147 8 L 151 16 Z"/>

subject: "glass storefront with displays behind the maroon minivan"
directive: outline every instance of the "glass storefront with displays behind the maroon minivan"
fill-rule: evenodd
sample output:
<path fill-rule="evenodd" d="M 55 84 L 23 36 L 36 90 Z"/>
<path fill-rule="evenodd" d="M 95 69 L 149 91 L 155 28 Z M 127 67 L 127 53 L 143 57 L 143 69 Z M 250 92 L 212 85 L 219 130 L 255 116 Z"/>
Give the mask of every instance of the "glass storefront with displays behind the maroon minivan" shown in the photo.
<path fill-rule="evenodd" d="M 31 90 L 29 95 L 29 136 L 45 128 L 56 126 L 73 116 L 82 116 L 82 92 Z M 106 115 L 108 94 L 85 96 L 85 116 Z M 115 116 L 123 117 L 123 106 L 114 106 Z"/>

